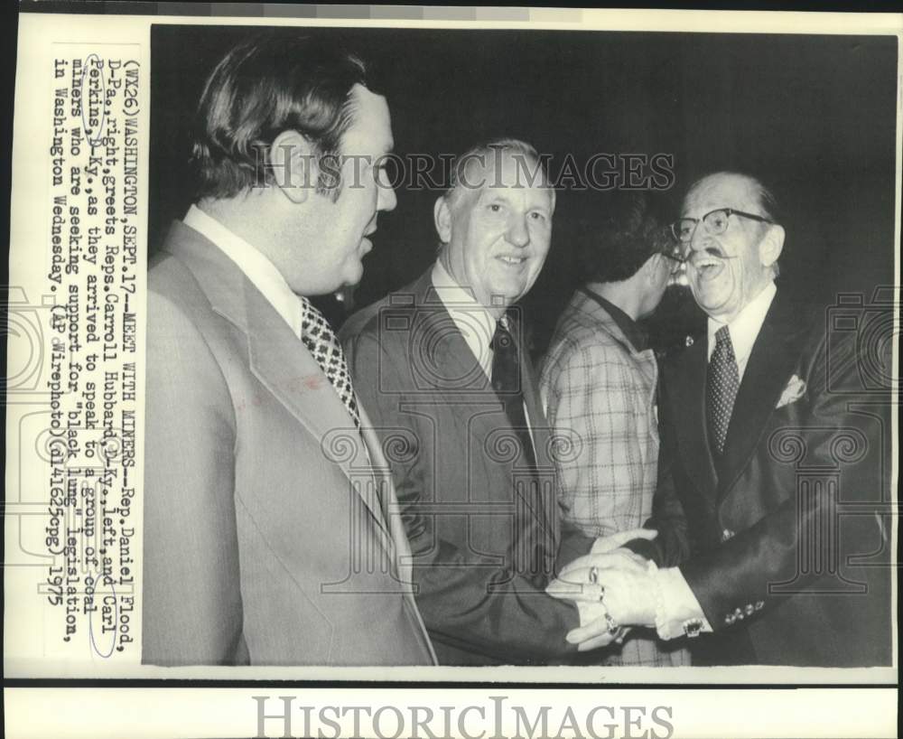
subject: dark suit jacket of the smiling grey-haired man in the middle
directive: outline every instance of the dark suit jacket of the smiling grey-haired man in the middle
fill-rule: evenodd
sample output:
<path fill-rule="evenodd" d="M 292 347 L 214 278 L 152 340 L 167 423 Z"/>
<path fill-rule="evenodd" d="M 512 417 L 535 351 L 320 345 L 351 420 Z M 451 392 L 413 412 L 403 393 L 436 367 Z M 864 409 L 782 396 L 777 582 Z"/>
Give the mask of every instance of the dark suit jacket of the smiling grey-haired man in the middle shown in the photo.
<path fill-rule="evenodd" d="M 572 603 L 545 594 L 563 532 L 545 428 L 521 327 L 523 393 L 540 481 L 479 361 L 436 294 L 431 272 L 342 327 L 355 387 L 391 452 L 414 553 L 417 603 L 441 663 L 537 664 L 574 651 Z"/>

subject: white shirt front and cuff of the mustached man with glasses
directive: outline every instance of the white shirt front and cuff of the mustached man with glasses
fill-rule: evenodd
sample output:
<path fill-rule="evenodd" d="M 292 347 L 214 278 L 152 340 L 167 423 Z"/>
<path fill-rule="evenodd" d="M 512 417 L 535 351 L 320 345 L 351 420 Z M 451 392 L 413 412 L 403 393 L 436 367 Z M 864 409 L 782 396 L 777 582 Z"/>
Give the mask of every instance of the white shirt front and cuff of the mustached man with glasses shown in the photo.
<path fill-rule="evenodd" d="M 714 351 L 715 332 L 721 326 L 727 325 L 728 332 L 731 334 L 731 345 L 737 360 L 740 381 L 743 380 L 743 373 L 746 371 L 752 346 L 759 338 L 762 323 L 765 323 L 768 308 L 771 307 L 771 302 L 775 299 L 776 294 L 777 285 L 771 281 L 759 295 L 756 295 L 743 307 L 731 323 L 725 324 L 712 317 L 709 318 L 709 360 L 712 359 L 712 351 Z M 703 607 L 696 599 L 693 590 L 687 585 L 679 567 L 656 570 L 653 579 L 656 585 L 658 604 L 655 625 L 659 638 L 674 639 L 683 636 L 684 624 L 693 621 L 702 623 L 702 631 L 712 631 L 712 624 L 705 618 Z"/>

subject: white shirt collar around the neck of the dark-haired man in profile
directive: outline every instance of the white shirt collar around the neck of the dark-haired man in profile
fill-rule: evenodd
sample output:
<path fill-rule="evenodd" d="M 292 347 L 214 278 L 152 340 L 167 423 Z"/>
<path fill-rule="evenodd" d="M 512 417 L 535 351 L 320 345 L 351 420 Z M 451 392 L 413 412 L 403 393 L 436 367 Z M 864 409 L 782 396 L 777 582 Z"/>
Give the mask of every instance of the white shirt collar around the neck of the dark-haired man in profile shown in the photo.
<path fill-rule="evenodd" d="M 301 300 L 292 292 L 273 262 L 196 205 L 191 206 L 183 222 L 213 242 L 235 262 L 251 284 L 275 308 L 275 312 L 289 324 L 295 336 L 301 336 Z"/>

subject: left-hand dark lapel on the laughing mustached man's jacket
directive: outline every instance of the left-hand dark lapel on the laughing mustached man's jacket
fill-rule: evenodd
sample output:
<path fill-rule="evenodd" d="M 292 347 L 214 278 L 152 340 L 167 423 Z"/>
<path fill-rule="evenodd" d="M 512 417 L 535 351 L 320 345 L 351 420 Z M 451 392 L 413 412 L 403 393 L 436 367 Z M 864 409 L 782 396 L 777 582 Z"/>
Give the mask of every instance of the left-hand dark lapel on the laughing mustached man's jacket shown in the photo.
<path fill-rule="evenodd" d="M 667 373 L 673 379 L 666 382 L 666 392 L 671 397 L 671 425 L 684 469 L 693 478 L 696 489 L 713 500 L 717 477 L 705 423 L 706 354 L 705 341 L 697 341 L 684 352 Z"/>

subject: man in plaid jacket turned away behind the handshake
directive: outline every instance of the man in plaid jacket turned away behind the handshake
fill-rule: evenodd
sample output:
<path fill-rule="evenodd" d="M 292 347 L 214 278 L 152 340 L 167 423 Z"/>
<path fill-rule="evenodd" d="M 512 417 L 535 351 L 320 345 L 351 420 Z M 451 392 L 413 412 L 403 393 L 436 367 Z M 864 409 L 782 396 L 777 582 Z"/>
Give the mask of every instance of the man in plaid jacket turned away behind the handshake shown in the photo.
<path fill-rule="evenodd" d="M 658 476 L 658 367 L 637 322 L 656 309 L 680 263 L 648 196 L 631 195 L 626 205 L 583 250 L 590 281 L 564 310 L 540 379 L 554 434 L 575 439 L 576 456 L 556 460 L 565 520 L 591 537 L 642 526 Z M 689 663 L 686 650 L 654 631 L 612 645 L 606 661 Z"/>

